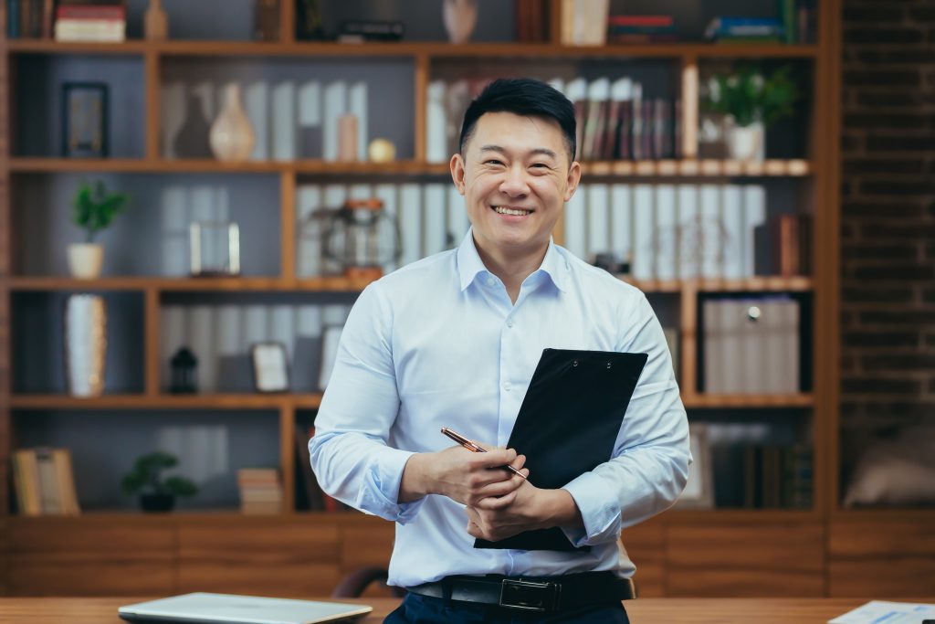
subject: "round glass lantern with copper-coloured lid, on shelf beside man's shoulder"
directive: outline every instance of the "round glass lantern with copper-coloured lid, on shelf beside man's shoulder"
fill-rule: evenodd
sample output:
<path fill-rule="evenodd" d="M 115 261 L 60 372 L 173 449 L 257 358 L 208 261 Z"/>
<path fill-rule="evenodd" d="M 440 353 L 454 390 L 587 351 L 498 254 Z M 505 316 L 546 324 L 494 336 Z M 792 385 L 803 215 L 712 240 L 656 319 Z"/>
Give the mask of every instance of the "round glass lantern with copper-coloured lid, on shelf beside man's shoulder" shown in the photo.
<path fill-rule="evenodd" d="M 328 215 L 323 247 L 324 255 L 344 268 L 345 277 L 376 280 L 382 265 L 402 253 L 399 224 L 380 199 L 348 200 Z"/>

